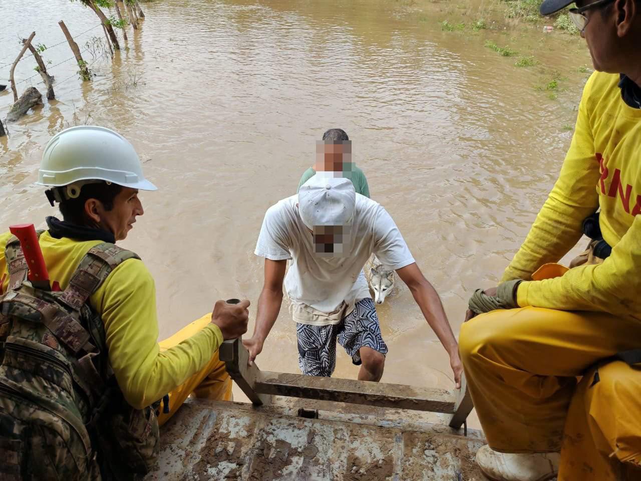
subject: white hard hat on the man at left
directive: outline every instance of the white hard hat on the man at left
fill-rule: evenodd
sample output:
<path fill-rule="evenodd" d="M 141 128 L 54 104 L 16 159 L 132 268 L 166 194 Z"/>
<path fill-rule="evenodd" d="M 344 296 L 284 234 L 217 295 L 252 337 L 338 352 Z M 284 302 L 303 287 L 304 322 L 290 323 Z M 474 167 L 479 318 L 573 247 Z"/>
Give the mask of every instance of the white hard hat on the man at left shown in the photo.
<path fill-rule="evenodd" d="M 133 146 L 119 133 L 83 125 L 56 134 L 44 148 L 36 183 L 62 187 L 87 180 L 104 180 L 131 189 L 157 189 L 142 174 Z"/>

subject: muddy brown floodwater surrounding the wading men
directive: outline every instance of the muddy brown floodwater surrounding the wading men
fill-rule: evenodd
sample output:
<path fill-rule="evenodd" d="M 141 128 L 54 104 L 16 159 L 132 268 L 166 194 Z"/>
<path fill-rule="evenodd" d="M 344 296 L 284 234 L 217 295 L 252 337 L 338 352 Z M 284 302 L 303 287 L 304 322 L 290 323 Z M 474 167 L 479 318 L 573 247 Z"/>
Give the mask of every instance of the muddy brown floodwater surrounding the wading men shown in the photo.
<path fill-rule="evenodd" d="M 145 214 L 122 246 L 156 280 L 161 337 L 221 298 L 251 300 L 251 333 L 263 215 L 296 193 L 315 140 L 332 127 L 353 140 L 372 199 L 398 224 L 458 335 L 470 292 L 495 285 L 554 183 L 587 78 L 577 67 L 590 65 L 580 38 L 556 31 L 444 31 L 457 13 L 449 2 L 156 0 L 142 3 L 146 19 L 113 61 L 101 56 L 96 15 L 78 2 L 0 4 L 0 83 L 18 38 L 35 30 L 57 97 L 0 139 L 0 226 L 42 227 L 56 213 L 33 185 L 49 137 L 85 123 L 122 133 L 159 187 L 142 193 Z M 92 82 L 79 81 L 69 46 L 56 45 L 60 20 Z M 487 39 L 539 65 L 515 67 Z M 34 66 L 19 63 L 19 93 L 45 92 Z M 562 74 L 556 99 L 537 88 L 543 67 Z M 1 92 L 3 119 L 11 103 Z M 451 387 L 445 351 L 410 292 L 377 309 L 389 347 L 383 381 Z M 299 372 L 285 303 L 257 363 Z M 357 371 L 339 347 L 335 376 Z"/>

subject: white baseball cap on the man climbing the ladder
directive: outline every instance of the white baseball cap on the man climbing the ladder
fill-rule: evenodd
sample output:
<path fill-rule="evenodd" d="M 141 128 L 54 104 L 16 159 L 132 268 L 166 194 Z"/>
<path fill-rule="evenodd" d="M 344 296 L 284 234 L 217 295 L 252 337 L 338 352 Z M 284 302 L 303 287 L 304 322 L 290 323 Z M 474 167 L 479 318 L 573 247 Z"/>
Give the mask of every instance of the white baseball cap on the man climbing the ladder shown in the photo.
<path fill-rule="evenodd" d="M 298 212 L 307 228 L 351 224 L 356 191 L 351 180 L 316 174 L 298 191 Z"/>

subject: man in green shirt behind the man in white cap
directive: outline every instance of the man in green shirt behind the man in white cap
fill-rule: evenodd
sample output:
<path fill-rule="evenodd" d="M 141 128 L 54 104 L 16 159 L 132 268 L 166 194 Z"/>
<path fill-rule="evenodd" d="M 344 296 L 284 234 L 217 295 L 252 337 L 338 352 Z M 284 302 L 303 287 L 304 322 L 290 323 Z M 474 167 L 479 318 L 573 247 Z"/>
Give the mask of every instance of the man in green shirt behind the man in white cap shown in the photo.
<path fill-rule="evenodd" d="M 347 133 L 342 129 L 329 129 L 322 135 L 322 141 L 316 144 L 316 164 L 304 171 L 296 192 L 317 171 L 342 172 L 342 177 L 348 178 L 354 184 L 356 194 L 369 198 L 369 185 L 365 174 L 354 165 L 351 158 L 352 143 Z"/>

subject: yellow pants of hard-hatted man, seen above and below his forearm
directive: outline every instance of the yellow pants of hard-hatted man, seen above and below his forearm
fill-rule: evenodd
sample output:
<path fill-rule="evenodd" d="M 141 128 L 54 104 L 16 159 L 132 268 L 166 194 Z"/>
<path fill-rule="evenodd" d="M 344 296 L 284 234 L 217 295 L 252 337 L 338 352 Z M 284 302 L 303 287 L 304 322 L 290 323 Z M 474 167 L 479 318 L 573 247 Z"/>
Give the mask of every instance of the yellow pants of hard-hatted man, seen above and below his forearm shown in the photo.
<path fill-rule="evenodd" d="M 172 346 L 176 346 L 181 341 L 194 335 L 203 329 L 212 321 L 212 313 L 206 314 L 197 321 L 185 326 L 174 335 L 160 341 L 160 350 L 167 350 Z M 160 409 L 160 416 L 158 416 L 158 424 L 163 425 L 169 418 L 171 418 L 183 402 L 194 394 L 197 398 L 216 399 L 223 401 L 231 401 L 231 378 L 225 370 L 225 363 L 218 358 L 218 351 L 214 353 L 210 362 L 183 384 L 179 385 L 173 391 L 169 392 L 169 412 L 164 413 L 162 407 Z"/>

